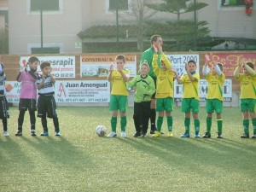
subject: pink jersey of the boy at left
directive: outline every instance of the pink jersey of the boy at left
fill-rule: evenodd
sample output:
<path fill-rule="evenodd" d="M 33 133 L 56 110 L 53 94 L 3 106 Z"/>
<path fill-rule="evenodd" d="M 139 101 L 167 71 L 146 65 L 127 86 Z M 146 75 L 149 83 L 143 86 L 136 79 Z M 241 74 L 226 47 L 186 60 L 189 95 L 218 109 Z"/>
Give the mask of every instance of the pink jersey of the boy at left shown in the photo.
<path fill-rule="evenodd" d="M 38 73 L 35 73 L 36 75 Z M 20 77 L 17 79 L 20 84 L 20 99 L 37 99 L 36 79 L 26 71 L 20 72 Z"/>

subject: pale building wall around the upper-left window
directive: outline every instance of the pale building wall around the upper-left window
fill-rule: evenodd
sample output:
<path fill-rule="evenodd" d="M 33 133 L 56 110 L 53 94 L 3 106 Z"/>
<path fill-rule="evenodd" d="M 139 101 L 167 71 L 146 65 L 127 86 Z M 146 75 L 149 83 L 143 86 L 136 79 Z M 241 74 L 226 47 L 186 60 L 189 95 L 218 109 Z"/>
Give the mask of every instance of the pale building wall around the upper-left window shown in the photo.
<path fill-rule="evenodd" d="M 30 54 L 30 47 L 41 46 L 39 12 L 30 12 L 30 0 L 9 0 L 9 54 Z M 61 53 L 80 53 L 75 49 L 82 30 L 81 0 L 61 0 L 58 12 L 43 12 L 44 44 L 60 46 Z"/>

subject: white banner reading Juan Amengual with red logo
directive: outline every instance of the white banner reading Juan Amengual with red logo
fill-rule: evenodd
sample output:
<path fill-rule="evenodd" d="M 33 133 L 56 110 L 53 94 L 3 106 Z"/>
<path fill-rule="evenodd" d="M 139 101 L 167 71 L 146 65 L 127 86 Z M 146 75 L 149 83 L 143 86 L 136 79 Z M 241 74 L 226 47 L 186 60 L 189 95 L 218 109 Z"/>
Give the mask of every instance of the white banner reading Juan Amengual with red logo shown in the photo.
<path fill-rule="evenodd" d="M 56 102 L 110 102 L 107 80 L 56 81 Z"/>

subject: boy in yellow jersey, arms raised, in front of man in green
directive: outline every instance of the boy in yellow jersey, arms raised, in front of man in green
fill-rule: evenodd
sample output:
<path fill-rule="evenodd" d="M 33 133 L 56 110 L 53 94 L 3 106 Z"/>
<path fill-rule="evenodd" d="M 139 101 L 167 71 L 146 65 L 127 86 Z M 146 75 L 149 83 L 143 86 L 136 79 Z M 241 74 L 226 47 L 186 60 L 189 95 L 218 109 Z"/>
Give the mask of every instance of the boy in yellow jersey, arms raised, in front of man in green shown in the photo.
<path fill-rule="evenodd" d="M 154 56 L 152 65 L 154 67 L 154 73 L 156 74 L 156 112 L 159 113 L 156 129 L 152 137 L 160 137 L 161 136 L 161 127 L 163 124 L 163 118 L 166 111 L 167 125 L 168 125 L 168 133 L 167 137 L 172 137 L 172 109 L 173 109 L 173 78 L 177 73 L 174 70 L 171 71 L 172 63 L 168 60 L 167 56 L 163 53 L 162 45 L 158 45 L 154 48 Z M 160 51 L 161 57 L 161 66 L 158 66 L 159 55 L 157 55 L 158 50 Z"/>

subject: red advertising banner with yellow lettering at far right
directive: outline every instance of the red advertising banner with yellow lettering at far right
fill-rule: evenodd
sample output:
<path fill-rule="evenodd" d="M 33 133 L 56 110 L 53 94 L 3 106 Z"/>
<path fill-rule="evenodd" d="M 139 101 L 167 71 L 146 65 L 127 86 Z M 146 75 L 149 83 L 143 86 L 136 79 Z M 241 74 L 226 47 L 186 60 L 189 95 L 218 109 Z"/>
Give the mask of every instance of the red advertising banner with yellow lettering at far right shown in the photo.
<path fill-rule="evenodd" d="M 256 53 L 218 53 L 213 55 L 213 60 L 223 64 L 225 76 L 234 76 L 234 71 L 238 63 L 251 61 L 256 63 Z M 210 62 L 210 64 L 212 64 Z"/>

